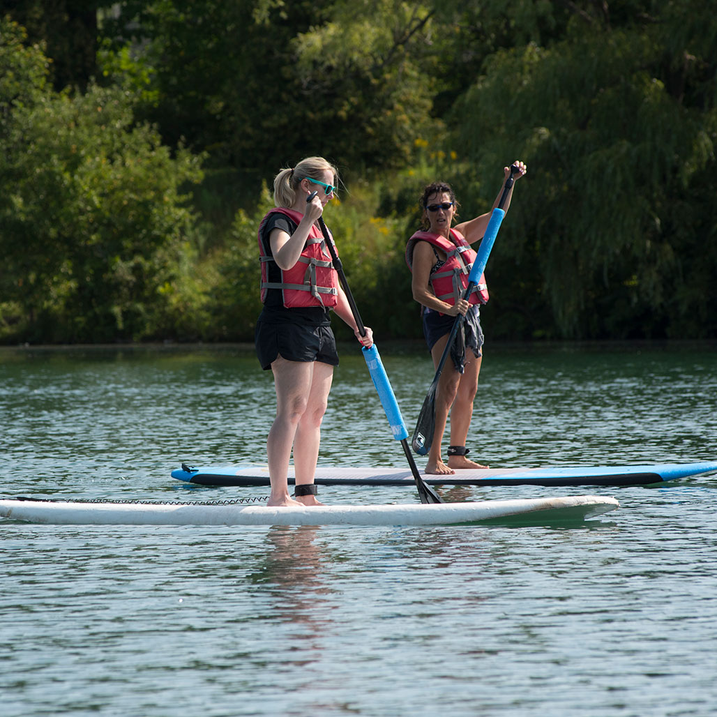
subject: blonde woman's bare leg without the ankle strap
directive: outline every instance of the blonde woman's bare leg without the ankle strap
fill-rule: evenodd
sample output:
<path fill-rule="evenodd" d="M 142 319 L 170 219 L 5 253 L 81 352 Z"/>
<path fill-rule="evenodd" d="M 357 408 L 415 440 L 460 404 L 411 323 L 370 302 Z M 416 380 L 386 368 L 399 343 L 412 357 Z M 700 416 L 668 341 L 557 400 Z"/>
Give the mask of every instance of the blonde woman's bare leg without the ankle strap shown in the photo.
<path fill-rule="evenodd" d="M 303 505 L 290 497 L 287 477 L 291 447 L 308 405 L 313 366 L 311 362 L 287 361 L 282 356 L 277 356 L 271 365 L 276 391 L 276 417 L 267 438 L 271 482 L 267 505 Z"/>

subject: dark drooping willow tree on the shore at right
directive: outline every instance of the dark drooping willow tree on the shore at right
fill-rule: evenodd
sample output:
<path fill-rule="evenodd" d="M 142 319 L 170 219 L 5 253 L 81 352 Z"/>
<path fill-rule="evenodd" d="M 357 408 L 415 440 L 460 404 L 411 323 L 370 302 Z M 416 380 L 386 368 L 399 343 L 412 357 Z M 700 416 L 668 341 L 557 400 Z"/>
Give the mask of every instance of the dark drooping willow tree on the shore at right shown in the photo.
<path fill-rule="evenodd" d="M 501 295 L 566 337 L 716 336 L 716 14 L 564 5 L 561 37 L 496 52 L 454 108 L 475 195 L 528 162 L 491 260 Z"/>

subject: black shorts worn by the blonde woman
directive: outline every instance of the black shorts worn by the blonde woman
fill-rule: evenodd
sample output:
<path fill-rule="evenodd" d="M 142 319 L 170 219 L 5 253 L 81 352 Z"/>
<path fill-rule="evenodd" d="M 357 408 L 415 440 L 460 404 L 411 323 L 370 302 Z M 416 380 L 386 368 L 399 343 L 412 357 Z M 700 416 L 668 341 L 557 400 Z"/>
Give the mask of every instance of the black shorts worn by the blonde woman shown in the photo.
<path fill-rule="evenodd" d="M 287 361 L 320 361 L 338 366 L 336 338 L 331 326 L 305 326 L 299 323 L 257 321 L 254 335 L 262 369 L 271 368 L 277 356 Z"/>

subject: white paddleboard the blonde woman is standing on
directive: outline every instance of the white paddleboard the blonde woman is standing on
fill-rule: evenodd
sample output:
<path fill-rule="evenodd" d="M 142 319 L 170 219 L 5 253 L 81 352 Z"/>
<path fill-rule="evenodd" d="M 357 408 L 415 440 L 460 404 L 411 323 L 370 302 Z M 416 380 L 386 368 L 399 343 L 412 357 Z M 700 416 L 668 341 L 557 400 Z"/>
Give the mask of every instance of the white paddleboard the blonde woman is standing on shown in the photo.
<path fill-rule="evenodd" d="M 11 498 L 0 500 L 0 516 L 31 523 L 67 525 L 470 526 L 493 523 L 521 526 L 576 523 L 618 507 L 614 498 L 599 495 L 305 508 L 270 508 L 232 500 L 153 503 Z"/>

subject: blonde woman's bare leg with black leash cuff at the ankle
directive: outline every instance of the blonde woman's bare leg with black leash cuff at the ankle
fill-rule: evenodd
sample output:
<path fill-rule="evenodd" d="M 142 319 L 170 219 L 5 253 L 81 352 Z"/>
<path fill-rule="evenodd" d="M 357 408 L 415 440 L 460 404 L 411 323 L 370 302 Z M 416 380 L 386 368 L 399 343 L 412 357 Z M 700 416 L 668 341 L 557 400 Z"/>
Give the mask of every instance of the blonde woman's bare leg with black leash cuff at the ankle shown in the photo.
<path fill-rule="evenodd" d="M 315 361 L 308 403 L 301 417 L 294 438 L 294 470 L 296 484 L 313 483 L 321 441 L 321 421 L 326 413 L 328 392 L 333 381 L 333 366 Z M 298 495 L 303 505 L 323 505 L 314 495 Z"/>

